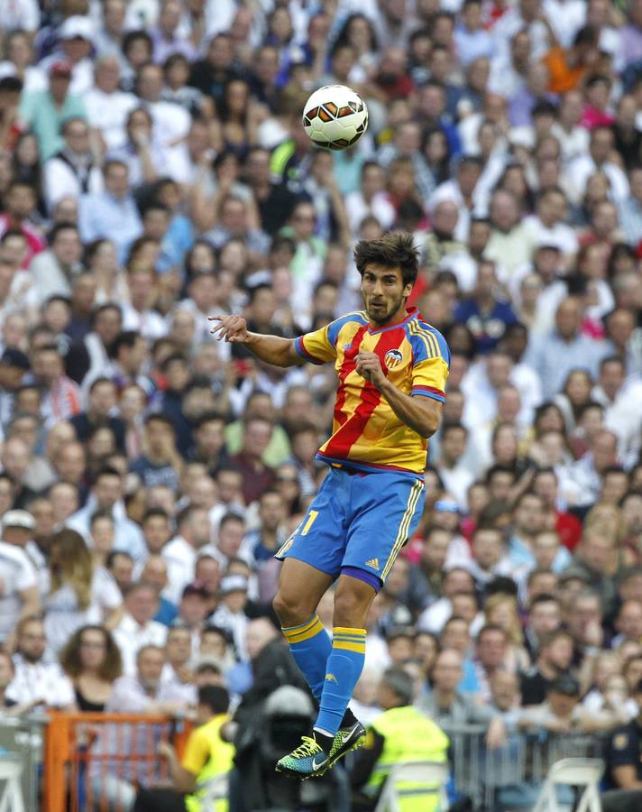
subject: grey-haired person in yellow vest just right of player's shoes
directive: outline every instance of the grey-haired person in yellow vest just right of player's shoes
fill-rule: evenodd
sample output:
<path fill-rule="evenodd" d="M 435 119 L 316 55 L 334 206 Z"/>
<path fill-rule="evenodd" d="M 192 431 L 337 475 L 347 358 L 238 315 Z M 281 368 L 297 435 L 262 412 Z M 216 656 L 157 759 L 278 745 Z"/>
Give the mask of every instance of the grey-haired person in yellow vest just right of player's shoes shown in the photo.
<path fill-rule="evenodd" d="M 412 699 L 413 684 L 408 673 L 397 667 L 385 671 L 378 688 L 378 702 L 384 713 L 369 727 L 350 774 L 354 812 L 366 812 L 377 806 L 395 764 L 448 760 L 448 737 L 412 706 Z M 423 789 L 423 785 L 420 788 L 404 783 L 400 789 L 400 812 L 438 812 L 438 787 L 434 792 L 413 791 Z"/>

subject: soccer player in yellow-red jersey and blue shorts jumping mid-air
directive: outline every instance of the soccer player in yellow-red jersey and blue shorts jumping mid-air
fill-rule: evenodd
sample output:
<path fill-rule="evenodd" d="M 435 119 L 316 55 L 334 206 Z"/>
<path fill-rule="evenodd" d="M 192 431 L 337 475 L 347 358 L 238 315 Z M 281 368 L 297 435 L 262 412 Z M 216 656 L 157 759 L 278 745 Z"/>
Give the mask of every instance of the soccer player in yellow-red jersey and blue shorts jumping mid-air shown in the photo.
<path fill-rule="evenodd" d="M 323 775 L 365 731 L 347 709 L 365 655 L 372 600 L 424 506 L 426 438 L 444 403 L 450 352 L 444 338 L 406 309 L 417 279 L 412 236 L 360 242 L 354 260 L 365 310 L 296 339 L 261 336 L 241 316 L 212 316 L 218 339 L 244 344 L 276 366 L 335 364 L 332 436 L 317 458 L 330 470 L 298 528 L 280 548 L 274 598 L 289 648 L 319 703 L 313 735 L 277 769 Z M 316 615 L 337 581 L 332 639 Z"/>

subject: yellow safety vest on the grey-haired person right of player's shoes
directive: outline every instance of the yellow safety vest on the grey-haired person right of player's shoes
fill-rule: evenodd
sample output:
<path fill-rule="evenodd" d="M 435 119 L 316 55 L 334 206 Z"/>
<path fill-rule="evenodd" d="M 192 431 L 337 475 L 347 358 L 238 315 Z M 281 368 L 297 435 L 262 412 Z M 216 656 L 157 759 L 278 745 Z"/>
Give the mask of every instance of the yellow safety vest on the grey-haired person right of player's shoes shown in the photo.
<path fill-rule="evenodd" d="M 448 736 L 416 707 L 407 705 L 390 708 L 374 720 L 371 728 L 384 737 L 381 756 L 363 788 L 371 798 L 380 792 L 395 764 L 405 761 L 443 763 L 448 758 Z M 426 785 L 401 782 L 400 812 L 436 812 L 439 809 L 438 789 L 435 788 L 434 794 L 427 794 Z"/>

